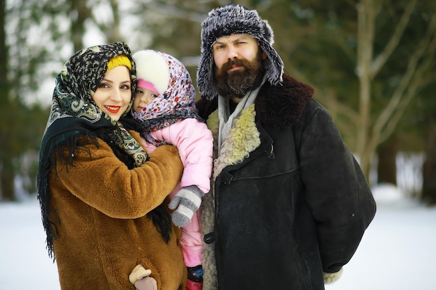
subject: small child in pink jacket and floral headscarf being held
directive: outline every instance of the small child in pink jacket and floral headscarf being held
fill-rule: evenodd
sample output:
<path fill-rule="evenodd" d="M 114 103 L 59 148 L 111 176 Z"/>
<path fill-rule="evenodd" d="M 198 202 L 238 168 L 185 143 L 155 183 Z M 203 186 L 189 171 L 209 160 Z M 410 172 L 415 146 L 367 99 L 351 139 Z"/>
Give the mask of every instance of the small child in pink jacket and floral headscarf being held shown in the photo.
<path fill-rule="evenodd" d="M 185 170 L 170 194 L 171 218 L 181 227 L 181 245 L 188 270 L 187 290 L 201 290 L 201 232 L 198 207 L 210 190 L 212 133 L 198 116 L 195 90 L 186 67 L 160 51 L 141 50 L 137 65 L 137 91 L 132 106 L 141 123 L 143 145 L 150 153 L 157 146 L 178 148 Z"/>

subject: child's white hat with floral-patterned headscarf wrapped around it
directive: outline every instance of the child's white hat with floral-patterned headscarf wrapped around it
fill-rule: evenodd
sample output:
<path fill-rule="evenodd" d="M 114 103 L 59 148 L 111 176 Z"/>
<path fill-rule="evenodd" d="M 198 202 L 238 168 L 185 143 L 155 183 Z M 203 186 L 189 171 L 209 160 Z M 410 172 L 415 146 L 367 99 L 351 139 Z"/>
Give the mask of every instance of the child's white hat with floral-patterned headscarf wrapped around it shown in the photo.
<path fill-rule="evenodd" d="M 163 58 L 164 62 L 157 62 L 153 59 L 156 57 Z M 133 54 L 133 58 L 138 67 L 138 80 L 143 79 L 153 83 L 159 90 L 159 96 L 142 111 L 135 113 L 132 110 L 133 118 L 141 122 L 143 138 L 156 146 L 163 145 L 164 141 L 155 140 L 150 136 L 150 132 L 169 127 L 171 124 L 186 118 L 196 118 L 203 121 L 196 110 L 195 89 L 185 65 L 173 56 L 161 51 L 137 51 Z M 153 67 L 150 63 L 167 65 L 168 69 L 163 71 L 169 73 L 161 74 L 162 70 Z M 162 83 L 164 86 L 160 89 Z"/>

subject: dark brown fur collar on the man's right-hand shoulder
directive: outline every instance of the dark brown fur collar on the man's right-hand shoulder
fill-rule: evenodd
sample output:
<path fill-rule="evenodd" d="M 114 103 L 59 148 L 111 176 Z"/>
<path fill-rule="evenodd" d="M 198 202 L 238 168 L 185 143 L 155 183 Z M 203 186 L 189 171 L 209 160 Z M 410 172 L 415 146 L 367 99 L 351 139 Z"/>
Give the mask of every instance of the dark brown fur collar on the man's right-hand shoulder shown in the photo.
<path fill-rule="evenodd" d="M 256 98 L 256 121 L 274 127 L 289 127 L 302 114 L 314 89 L 288 74 L 277 86 L 265 83 Z"/>

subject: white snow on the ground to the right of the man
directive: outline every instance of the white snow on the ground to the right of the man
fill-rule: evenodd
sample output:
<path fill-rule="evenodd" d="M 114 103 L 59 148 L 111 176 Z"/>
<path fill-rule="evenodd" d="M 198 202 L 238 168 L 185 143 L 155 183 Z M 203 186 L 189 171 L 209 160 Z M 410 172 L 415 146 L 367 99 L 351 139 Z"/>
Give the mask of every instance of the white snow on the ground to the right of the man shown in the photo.
<path fill-rule="evenodd" d="M 377 213 L 338 282 L 326 290 L 435 290 L 436 208 L 373 190 Z"/>

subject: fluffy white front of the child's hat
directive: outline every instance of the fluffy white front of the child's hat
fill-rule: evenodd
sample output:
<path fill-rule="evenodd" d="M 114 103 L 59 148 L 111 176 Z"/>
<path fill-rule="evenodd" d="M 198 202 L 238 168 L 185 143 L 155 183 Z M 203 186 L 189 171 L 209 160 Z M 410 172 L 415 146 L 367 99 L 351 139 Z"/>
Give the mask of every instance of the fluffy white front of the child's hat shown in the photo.
<path fill-rule="evenodd" d="M 152 49 L 140 50 L 133 54 L 137 67 L 137 79 L 152 83 L 159 94 L 169 86 L 169 65 L 163 54 Z"/>

